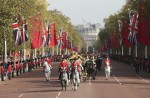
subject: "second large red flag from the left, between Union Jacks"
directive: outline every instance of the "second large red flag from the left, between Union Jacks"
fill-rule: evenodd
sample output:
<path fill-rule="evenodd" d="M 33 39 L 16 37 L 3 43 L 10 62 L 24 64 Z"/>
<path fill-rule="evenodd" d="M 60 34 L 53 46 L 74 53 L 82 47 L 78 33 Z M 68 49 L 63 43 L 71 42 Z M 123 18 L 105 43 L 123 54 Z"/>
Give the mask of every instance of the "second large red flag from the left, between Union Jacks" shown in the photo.
<path fill-rule="evenodd" d="M 50 24 L 50 44 L 49 47 L 57 45 L 55 23 Z"/>

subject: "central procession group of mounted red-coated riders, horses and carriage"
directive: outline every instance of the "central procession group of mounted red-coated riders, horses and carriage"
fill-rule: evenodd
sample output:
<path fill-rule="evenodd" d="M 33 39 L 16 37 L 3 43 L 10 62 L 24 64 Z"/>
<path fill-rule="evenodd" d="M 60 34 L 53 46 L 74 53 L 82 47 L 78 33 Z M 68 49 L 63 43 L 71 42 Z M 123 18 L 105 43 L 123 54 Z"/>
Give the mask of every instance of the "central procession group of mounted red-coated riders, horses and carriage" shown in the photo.
<path fill-rule="evenodd" d="M 102 58 L 100 54 L 72 54 L 63 57 L 59 64 L 59 80 L 66 84 L 73 82 L 73 89 L 77 90 L 77 86 L 86 79 L 95 80 L 97 71 L 101 70 Z M 64 72 L 67 73 L 65 76 Z M 64 76 L 63 76 L 64 75 Z M 64 79 L 65 78 L 65 79 Z M 63 82 L 62 90 L 63 90 Z M 65 84 L 65 86 L 66 86 Z M 66 88 L 65 88 L 66 89 Z"/>

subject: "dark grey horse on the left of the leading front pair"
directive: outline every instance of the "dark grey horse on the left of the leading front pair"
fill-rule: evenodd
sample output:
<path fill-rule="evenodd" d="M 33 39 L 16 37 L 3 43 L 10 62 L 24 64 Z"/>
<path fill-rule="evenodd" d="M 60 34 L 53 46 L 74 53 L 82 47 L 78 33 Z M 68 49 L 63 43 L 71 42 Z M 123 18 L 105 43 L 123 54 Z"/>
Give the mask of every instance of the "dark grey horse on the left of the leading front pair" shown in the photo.
<path fill-rule="evenodd" d="M 66 91 L 66 87 L 68 85 L 68 74 L 66 70 L 61 71 L 60 81 L 61 81 L 62 90 L 63 87 L 65 87 L 65 91 Z"/>

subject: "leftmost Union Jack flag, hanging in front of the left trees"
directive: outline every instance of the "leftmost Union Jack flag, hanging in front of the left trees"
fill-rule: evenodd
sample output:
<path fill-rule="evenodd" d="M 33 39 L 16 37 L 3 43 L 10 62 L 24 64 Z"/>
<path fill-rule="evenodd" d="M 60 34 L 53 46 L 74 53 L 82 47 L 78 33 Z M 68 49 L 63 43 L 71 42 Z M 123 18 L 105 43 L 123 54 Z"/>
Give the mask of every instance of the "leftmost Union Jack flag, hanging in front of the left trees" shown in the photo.
<path fill-rule="evenodd" d="M 15 37 L 15 44 L 21 45 L 22 44 L 22 36 L 21 36 L 21 31 L 19 29 L 18 22 L 14 22 L 12 24 L 12 28 L 13 28 L 13 33 L 14 33 L 14 37 Z"/>

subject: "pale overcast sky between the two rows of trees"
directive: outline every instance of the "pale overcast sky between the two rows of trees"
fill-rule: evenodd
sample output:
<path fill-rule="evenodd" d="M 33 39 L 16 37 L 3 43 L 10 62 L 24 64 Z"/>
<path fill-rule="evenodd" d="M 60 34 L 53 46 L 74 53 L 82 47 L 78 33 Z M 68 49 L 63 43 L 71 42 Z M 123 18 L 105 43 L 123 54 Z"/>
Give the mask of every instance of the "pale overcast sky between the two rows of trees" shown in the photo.
<path fill-rule="evenodd" d="M 57 9 L 68 16 L 73 25 L 100 23 L 103 19 L 117 13 L 126 0 L 47 0 L 48 10 Z"/>

